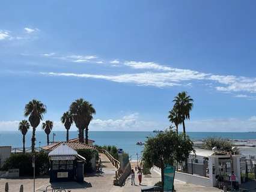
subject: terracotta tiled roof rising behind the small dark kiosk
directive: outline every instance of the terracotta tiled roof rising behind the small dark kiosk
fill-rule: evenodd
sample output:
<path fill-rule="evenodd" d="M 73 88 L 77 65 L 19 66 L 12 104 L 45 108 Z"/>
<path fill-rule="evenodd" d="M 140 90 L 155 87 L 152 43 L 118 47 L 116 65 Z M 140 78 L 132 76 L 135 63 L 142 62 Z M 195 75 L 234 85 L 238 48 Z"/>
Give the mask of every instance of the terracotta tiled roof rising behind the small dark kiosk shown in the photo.
<path fill-rule="evenodd" d="M 46 150 L 46 151 L 52 151 L 53 149 L 56 149 L 62 143 L 65 143 L 67 146 L 69 146 L 70 148 L 75 149 L 75 150 L 96 149 L 95 146 L 87 145 L 85 143 L 80 143 L 80 142 L 58 142 L 58 143 L 54 143 L 52 145 L 43 146 L 42 149 Z"/>

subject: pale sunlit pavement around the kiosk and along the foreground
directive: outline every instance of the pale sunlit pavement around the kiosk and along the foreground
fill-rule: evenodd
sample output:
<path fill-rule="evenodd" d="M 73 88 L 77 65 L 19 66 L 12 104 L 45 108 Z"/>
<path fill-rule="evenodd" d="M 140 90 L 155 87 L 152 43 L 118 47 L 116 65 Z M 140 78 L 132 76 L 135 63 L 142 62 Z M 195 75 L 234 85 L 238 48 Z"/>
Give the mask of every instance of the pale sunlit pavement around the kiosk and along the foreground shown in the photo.
<path fill-rule="evenodd" d="M 108 158 L 100 154 L 103 163 L 102 173 L 88 174 L 85 176 L 85 182 L 79 184 L 77 182 L 57 182 L 52 184 L 52 187 L 64 187 L 72 192 L 80 191 L 96 191 L 96 192 L 136 192 L 141 191 L 141 188 L 147 186 L 153 186 L 160 181 L 160 175 L 154 170 L 151 170 L 150 175 L 142 176 L 142 185 L 138 185 L 138 176 L 135 175 L 135 184 L 131 185 L 130 177 L 126 179 L 123 186 L 114 186 L 113 180 L 115 176 L 115 167 L 112 166 Z M 23 184 L 24 192 L 33 191 L 33 179 L 31 178 L 19 178 L 19 179 L 0 179 L 0 191 L 4 191 L 5 182 L 9 184 L 9 192 L 18 192 L 20 185 Z M 47 178 L 37 178 L 35 179 L 35 191 L 43 192 L 49 184 L 49 177 Z M 182 192 L 218 192 L 221 191 L 218 188 L 213 187 L 203 187 L 201 185 L 186 184 L 182 181 L 174 181 L 175 190 Z M 50 188 L 49 188 L 50 189 Z M 49 191 L 49 190 L 48 190 Z M 52 191 L 52 190 L 50 190 Z"/>

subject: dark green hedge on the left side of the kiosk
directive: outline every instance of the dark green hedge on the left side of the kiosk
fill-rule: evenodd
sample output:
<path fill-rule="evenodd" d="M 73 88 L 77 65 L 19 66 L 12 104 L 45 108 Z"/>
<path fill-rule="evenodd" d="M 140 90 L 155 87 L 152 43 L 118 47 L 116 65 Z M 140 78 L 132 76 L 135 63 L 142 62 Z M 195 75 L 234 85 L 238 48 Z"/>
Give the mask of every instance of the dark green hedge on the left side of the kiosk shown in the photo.
<path fill-rule="evenodd" d="M 5 160 L 2 170 L 19 169 L 20 176 L 32 176 L 32 156 L 33 154 L 11 154 L 11 156 Z M 35 153 L 35 175 L 46 173 L 49 167 L 48 155 L 45 152 Z"/>

